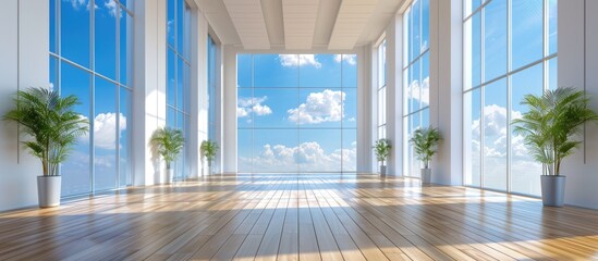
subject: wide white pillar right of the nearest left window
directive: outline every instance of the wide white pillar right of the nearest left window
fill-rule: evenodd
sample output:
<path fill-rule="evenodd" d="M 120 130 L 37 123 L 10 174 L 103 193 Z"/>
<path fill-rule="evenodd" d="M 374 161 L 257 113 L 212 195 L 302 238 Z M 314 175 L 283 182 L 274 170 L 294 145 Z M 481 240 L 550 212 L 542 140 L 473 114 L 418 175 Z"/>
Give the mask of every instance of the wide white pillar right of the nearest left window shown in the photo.
<path fill-rule="evenodd" d="M 166 0 L 135 1 L 133 53 L 133 184 L 163 181 L 162 164 L 149 146 L 166 124 Z"/>

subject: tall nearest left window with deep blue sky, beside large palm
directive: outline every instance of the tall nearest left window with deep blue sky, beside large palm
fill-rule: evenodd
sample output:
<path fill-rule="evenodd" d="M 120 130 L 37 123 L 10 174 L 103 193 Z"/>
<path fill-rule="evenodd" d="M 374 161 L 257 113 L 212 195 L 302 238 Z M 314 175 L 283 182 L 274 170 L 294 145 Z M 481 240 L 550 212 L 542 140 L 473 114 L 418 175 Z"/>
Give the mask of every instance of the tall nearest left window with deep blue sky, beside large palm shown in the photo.
<path fill-rule="evenodd" d="M 63 196 L 131 185 L 131 8 L 130 1 L 50 0 L 51 87 L 76 96 L 75 110 L 90 124 L 61 165 Z"/>

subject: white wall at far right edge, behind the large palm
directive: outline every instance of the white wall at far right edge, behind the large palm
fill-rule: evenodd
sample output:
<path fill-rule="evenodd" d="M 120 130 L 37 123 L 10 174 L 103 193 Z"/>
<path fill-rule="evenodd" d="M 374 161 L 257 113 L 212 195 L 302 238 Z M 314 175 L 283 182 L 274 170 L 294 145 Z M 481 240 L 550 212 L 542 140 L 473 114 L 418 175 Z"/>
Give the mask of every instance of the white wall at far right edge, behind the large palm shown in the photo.
<path fill-rule="evenodd" d="M 559 1 L 559 86 L 585 88 L 598 111 L 598 1 Z M 585 39 L 585 41 L 584 41 Z M 587 124 L 584 146 L 565 159 L 565 203 L 598 209 L 598 125 Z"/>

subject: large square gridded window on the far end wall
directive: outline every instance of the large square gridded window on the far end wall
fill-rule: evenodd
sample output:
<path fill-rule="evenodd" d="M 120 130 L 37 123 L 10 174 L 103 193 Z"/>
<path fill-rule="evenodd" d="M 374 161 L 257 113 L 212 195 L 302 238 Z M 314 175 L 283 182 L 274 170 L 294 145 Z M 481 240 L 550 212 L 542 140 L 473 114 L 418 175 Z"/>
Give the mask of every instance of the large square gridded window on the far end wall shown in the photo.
<path fill-rule="evenodd" d="M 355 54 L 237 55 L 239 172 L 355 172 Z"/>

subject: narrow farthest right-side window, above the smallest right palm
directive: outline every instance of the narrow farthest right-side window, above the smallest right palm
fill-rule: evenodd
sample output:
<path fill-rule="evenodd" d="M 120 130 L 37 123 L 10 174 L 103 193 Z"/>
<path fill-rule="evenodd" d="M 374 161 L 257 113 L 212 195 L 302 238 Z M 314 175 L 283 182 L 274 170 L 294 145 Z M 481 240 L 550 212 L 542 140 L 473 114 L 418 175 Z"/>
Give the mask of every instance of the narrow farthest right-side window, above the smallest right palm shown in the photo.
<path fill-rule="evenodd" d="M 378 80 L 376 85 L 376 114 L 378 115 L 378 139 L 387 137 L 387 40 L 378 46 Z"/>

